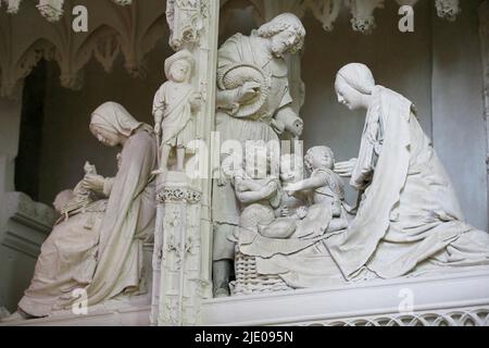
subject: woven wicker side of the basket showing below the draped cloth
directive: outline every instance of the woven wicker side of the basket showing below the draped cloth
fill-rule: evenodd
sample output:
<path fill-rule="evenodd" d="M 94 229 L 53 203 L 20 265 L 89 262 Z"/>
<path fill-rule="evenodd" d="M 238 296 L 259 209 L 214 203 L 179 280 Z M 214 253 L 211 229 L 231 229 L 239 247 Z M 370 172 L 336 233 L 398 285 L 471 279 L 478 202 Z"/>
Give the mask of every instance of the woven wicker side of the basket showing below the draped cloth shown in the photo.
<path fill-rule="evenodd" d="M 278 275 L 259 274 L 256 272 L 256 258 L 240 252 L 239 247 L 236 249 L 236 281 L 230 283 L 233 296 L 287 291 L 292 289 Z"/>

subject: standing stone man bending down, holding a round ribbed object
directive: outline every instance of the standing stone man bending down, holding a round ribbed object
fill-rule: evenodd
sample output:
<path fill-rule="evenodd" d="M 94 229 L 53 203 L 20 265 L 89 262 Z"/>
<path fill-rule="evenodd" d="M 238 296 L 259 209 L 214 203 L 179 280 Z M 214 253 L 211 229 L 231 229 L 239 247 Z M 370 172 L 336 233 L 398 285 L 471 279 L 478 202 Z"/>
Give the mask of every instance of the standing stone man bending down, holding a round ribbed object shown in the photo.
<path fill-rule="evenodd" d="M 286 132 L 298 137 L 303 122 L 292 109 L 285 54 L 298 52 L 305 29 L 300 20 L 284 13 L 250 36 L 236 34 L 218 50 L 216 130 L 221 139 L 277 141 Z M 213 184 L 214 289 L 229 293 L 235 256 L 229 243 L 239 223 L 239 207 L 230 183 Z"/>

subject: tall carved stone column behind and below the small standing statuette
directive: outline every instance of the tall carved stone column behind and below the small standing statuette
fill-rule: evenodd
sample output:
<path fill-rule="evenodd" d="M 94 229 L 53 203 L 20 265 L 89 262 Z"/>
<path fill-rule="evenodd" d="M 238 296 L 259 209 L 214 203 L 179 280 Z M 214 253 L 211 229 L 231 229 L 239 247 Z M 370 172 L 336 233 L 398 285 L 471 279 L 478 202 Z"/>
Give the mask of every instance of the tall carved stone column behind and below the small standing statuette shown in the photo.
<path fill-rule="evenodd" d="M 211 138 L 214 129 L 217 64 L 218 1 L 168 0 L 170 45 L 187 49 L 196 59 L 192 84 L 203 92 L 197 115 L 196 153 L 187 165 L 197 172 L 168 172 L 156 192 L 153 254 L 152 325 L 200 323 L 201 300 L 212 296 Z"/>

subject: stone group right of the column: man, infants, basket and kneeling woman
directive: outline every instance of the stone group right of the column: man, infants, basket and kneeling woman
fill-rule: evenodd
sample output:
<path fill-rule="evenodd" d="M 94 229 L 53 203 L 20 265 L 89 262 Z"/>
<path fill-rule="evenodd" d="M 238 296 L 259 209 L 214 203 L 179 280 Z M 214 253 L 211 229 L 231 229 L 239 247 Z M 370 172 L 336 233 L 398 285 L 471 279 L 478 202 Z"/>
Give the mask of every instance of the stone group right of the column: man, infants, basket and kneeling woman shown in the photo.
<path fill-rule="evenodd" d="M 289 154 L 276 174 L 269 144 L 302 133 L 284 54 L 300 50 L 304 36 L 300 21 L 286 13 L 249 37 L 235 35 L 218 52 L 216 128 L 247 154 L 244 170 L 214 184 L 215 296 L 487 266 L 489 235 L 464 222 L 413 103 L 376 85 L 363 64 L 342 67 L 335 84 L 340 103 L 366 110 L 359 158 L 335 163 L 330 149 L 315 147 L 304 161 L 309 178 L 298 179 L 301 165 L 287 169 L 301 162 Z M 256 156 L 246 140 L 268 144 L 261 178 L 248 169 Z M 346 203 L 340 177 L 351 178 L 358 207 Z"/>

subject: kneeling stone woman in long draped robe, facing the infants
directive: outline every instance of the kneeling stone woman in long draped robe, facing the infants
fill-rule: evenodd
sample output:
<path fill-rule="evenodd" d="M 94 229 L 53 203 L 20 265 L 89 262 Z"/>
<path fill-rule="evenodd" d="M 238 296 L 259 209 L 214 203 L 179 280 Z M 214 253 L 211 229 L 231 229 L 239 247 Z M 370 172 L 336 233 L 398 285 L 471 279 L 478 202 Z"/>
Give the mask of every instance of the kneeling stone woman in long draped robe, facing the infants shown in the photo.
<path fill-rule="evenodd" d="M 489 264 L 489 235 L 464 222 L 413 103 L 377 86 L 359 63 L 342 67 L 335 86 L 340 103 L 367 110 L 359 159 L 336 166 L 362 195 L 347 233 L 327 240 L 344 277 L 393 278 Z"/>

